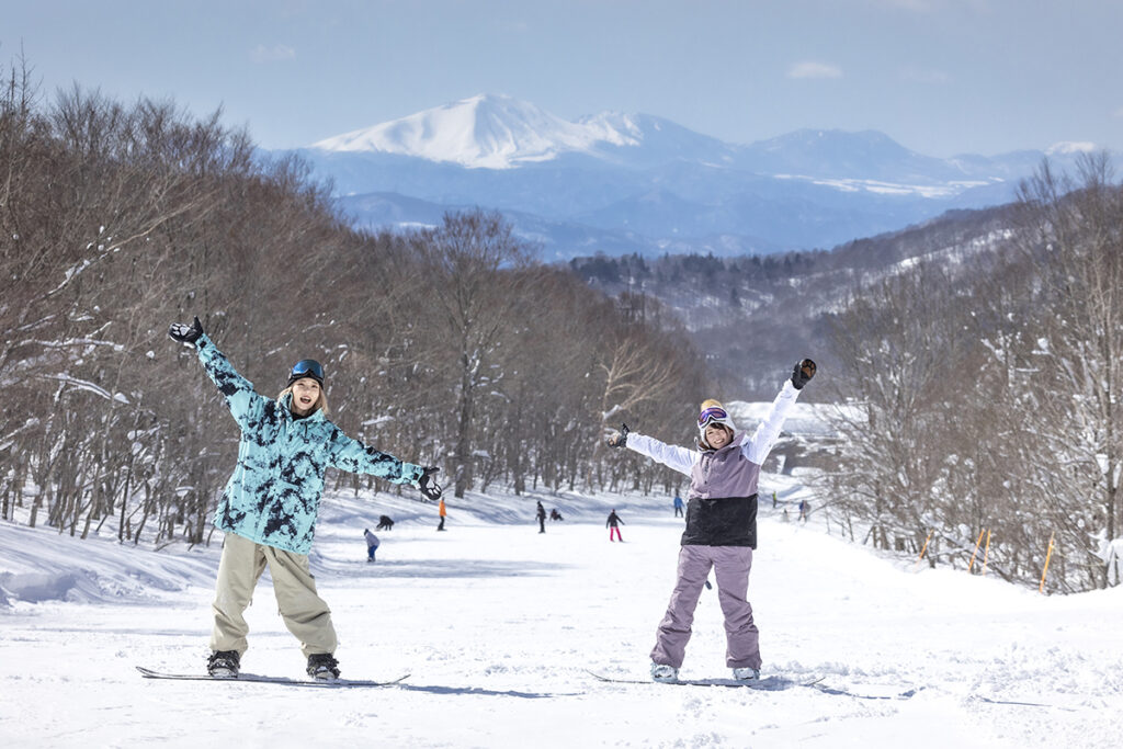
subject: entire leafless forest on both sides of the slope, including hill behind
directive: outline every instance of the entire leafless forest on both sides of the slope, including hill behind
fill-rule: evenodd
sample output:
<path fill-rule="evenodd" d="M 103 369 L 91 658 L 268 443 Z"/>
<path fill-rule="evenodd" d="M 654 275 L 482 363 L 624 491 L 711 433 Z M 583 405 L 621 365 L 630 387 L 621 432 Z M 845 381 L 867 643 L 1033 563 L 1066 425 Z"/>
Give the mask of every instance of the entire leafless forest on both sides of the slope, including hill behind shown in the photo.
<path fill-rule="evenodd" d="M 208 540 L 237 429 L 166 336 L 195 314 L 261 392 L 323 362 L 334 420 L 441 466 L 456 496 L 669 490 L 676 476 L 605 455 L 605 427 L 688 444 L 683 413 L 714 383 L 740 372 L 746 398 L 775 392 L 773 359 L 822 345 L 822 510 L 855 540 L 1032 585 L 1048 557 L 1057 592 L 1120 582 L 1123 192 L 1106 155 L 1071 175 L 1044 164 L 1016 204 L 940 231 L 574 273 L 493 213 L 356 232 L 304 165 L 263 163 L 221 112 L 47 100 L 18 68 L 0 107 L 4 520 Z M 709 295 L 716 321 L 619 293 L 643 273 Z M 615 296 L 600 291 L 613 274 Z M 767 304 L 750 330 L 724 319 Z M 697 341 L 728 347 L 716 375 Z"/>

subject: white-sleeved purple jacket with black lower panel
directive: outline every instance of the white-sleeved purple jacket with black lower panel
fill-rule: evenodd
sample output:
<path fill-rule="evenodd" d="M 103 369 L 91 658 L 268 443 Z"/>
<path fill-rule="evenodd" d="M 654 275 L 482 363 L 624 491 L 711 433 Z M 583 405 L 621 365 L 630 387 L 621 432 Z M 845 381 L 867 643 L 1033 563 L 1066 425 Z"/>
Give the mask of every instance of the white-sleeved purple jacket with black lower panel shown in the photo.
<path fill-rule="evenodd" d="M 683 546 L 757 548 L 757 479 L 800 391 L 784 383 L 752 436 L 734 433 L 720 450 L 690 449 L 637 432 L 627 447 L 691 477 Z"/>

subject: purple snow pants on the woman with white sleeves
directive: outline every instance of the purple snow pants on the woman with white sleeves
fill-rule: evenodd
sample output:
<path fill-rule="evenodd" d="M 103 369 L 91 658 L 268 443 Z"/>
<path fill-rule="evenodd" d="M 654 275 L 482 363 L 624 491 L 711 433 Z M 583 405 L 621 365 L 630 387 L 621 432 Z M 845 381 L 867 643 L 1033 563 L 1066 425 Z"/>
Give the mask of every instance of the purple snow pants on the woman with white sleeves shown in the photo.
<path fill-rule="evenodd" d="M 747 546 L 684 546 L 678 551 L 678 582 L 670 594 L 667 613 L 659 622 L 651 660 L 679 668 L 691 639 L 691 623 L 702 586 L 714 568 L 718 600 L 725 614 L 725 665 L 729 668 L 760 668 L 760 641 L 752 623 L 749 569 L 752 549 Z"/>

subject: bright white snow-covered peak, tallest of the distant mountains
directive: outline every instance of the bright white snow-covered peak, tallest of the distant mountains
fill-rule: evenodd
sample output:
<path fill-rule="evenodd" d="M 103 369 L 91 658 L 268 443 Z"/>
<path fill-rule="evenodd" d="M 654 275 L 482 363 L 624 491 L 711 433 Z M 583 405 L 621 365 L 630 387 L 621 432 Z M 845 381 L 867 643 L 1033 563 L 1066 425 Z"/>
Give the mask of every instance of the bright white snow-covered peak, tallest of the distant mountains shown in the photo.
<path fill-rule="evenodd" d="M 320 140 L 331 152 L 381 152 L 503 170 L 591 152 L 597 145 L 637 145 L 627 126 L 608 119 L 569 122 L 527 101 L 480 94 L 402 119 Z"/>

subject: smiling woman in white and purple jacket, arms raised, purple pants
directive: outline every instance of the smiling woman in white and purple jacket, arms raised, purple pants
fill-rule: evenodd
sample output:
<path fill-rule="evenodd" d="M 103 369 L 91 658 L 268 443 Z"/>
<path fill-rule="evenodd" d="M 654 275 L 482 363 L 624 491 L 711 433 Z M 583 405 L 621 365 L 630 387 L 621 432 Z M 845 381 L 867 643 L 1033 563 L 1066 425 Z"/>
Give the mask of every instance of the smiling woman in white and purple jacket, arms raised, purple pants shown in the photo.
<path fill-rule="evenodd" d="M 784 419 L 814 374 L 815 363 L 811 359 L 796 364 L 751 437 L 738 433 L 729 412 L 713 400 L 702 403 L 695 450 L 630 432 L 627 424 L 609 436 L 610 447 L 628 447 L 691 477 L 678 581 L 651 650 L 652 679 L 678 678 L 694 609 L 711 567 L 725 616 L 725 665 L 737 679 L 759 678 L 759 632 L 746 597 L 757 546 L 757 479 Z"/>

